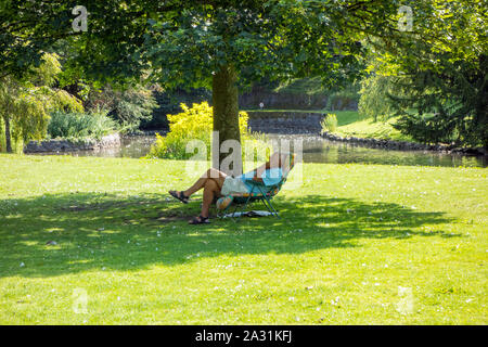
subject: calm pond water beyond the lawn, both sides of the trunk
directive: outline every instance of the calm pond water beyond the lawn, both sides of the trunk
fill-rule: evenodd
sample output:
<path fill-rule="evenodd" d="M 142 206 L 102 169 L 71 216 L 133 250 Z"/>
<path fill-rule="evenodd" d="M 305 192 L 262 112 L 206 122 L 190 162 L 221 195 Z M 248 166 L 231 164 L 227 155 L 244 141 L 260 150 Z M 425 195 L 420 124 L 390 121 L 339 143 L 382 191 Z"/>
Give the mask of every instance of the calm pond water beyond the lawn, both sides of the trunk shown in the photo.
<path fill-rule="evenodd" d="M 391 151 L 337 143 L 318 136 L 269 134 L 270 139 L 293 140 L 303 142 L 304 163 L 363 163 L 380 165 L 422 165 L 422 166 L 466 166 L 487 167 L 486 156 L 465 156 L 423 151 Z M 155 141 L 153 136 L 134 136 L 121 139 L 121 145 L 99 151 L 80 151 L 69 153 L 74 156 L 132 157 L 139 158 L 150 151 Z M 60 153 L 66 154 L 66 153 Z"/>

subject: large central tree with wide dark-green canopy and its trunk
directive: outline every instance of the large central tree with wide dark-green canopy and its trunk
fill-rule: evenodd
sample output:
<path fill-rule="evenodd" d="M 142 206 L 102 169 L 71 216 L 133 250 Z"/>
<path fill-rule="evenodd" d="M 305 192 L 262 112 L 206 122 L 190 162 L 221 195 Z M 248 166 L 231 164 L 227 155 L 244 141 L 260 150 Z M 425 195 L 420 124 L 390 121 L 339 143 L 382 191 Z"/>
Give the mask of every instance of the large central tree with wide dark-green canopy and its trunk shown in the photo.
<path fill-rule="evenodd" d="M 213 89 L 220 142 L 239 140 L 237 91 L 262 77 L 320 75 L 325 85 L 361 73 L 364 30 L 391 35 L 396 1 L 87 0 L 88 31 L 73 33 L 77 1 L 2 4 L 0 67 L 22 74 L 40 50 L 66 40 L 74 78 L 137 83 L 150 73 L 165 88 Z M 216 163 L 215 165 L 218 165 Z"/>

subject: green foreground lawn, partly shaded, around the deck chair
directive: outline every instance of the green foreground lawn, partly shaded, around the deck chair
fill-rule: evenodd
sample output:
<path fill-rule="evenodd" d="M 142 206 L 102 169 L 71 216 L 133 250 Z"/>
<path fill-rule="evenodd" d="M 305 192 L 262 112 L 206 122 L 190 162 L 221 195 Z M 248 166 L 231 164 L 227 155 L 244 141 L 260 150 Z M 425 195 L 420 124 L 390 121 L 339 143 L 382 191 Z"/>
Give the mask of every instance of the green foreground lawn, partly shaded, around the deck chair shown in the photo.
<path fill-rule="evenodd" d="M 486 169 L 305 164 L 283 219 L 207 226 L 183 174 L 0 155 L 0 323 L 488 323 Z"/>

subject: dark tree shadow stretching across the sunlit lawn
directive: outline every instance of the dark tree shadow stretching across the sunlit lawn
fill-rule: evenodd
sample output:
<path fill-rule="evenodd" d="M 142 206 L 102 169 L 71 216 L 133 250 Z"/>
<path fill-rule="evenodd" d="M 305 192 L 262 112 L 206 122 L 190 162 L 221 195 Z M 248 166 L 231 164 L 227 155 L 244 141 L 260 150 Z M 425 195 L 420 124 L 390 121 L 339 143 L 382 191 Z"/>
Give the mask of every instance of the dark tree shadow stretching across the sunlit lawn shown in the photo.
<path fill-rule="evenodd" d="M 182 205 L 157 194 L 67 193 L 0 201 L 0 277 L 53 277 L 87 270 L 139 270 L 221 255 L 300 254 L 357 247 L 361 240 L 451 237 L 421 231 L 442 213 L 308 195 L 279 196 L 282 219 L 213 219 L 189 226 L 200 198 Z M 256 205 L 254 208 L 262 209 Z M 55 244 L 47 243 L 54 241 Z M 23 266 L 21 266 L 23 264 Z"/>

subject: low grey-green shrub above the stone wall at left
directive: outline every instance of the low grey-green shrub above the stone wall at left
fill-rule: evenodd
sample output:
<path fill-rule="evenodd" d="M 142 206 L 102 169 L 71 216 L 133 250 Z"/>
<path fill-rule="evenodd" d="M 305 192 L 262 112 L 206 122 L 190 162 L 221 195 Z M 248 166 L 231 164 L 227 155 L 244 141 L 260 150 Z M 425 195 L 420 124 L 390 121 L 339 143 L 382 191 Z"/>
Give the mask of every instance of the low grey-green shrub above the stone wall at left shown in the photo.
<path fill-rule="evenodd" d="M 63 113 L 54 112 L 48 125 L 48 136 L 52 139 L 100 139 L 117 129 L 115 120 L 107 112 Z"/>

